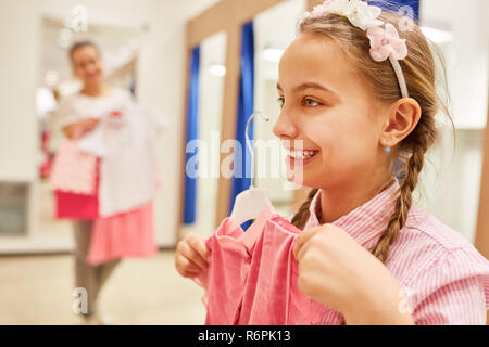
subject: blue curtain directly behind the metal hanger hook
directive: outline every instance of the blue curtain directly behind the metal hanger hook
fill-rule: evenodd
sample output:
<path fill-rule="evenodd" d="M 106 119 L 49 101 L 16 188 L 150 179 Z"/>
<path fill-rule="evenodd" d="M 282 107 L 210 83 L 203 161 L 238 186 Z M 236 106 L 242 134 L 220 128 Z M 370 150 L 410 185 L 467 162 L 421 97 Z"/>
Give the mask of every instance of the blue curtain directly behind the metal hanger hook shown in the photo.
<path fill-rule="evenodd" d="M 234 160 L 234 178 L 229 214 L 235 205 L 236 195 L 250 188 L 251 154 L 246 144 L 244 130 L 248 118 L 253 113 L 254 105 L 254 34 L 253 22 L 249 22 L 241 29 L 241 77 L 239 82 L 239 104 L 236 123 L 236 140 L 241 144 L 243 156 L 236 156 Z M 253 140 L 253 120 L 250 124 L 250 140 Z M 236 149 L 239 150 L 239 149 Z M 251 221 L 243 223 L 246 230 Z"/>

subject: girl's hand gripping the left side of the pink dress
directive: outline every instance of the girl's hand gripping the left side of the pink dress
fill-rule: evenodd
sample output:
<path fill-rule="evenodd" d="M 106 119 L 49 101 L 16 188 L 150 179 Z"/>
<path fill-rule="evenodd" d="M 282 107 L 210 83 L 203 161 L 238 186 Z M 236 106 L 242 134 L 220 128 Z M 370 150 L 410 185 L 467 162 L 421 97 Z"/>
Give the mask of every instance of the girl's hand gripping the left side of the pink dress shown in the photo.
<path fill-rule="evenodd" d="M 175 253 L 175 268 L 184 278 L 197 278 L 209 267 L 210 252 L 205 239 L 189 233 L 178 242 Z"/>

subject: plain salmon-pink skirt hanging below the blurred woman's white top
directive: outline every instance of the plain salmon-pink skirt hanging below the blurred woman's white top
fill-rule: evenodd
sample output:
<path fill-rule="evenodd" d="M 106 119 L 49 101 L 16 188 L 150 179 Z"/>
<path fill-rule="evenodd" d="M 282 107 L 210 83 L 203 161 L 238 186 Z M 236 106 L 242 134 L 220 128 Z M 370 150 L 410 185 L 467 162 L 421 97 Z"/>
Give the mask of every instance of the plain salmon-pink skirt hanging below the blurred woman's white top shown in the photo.
<path fill-rule="evenodd" d="M 155 254 L 158 246 L 154 241 L 152 202 L 128 213 L 93 220 L 87 262 L 98 265 Z"/>

